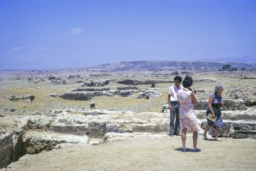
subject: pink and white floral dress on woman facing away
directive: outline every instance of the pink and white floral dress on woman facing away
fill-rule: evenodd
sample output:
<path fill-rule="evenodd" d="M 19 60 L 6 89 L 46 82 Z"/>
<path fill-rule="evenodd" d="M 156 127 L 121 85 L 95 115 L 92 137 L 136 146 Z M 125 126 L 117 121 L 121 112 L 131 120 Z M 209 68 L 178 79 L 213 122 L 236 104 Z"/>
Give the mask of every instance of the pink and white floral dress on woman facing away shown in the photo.
<path fill-rule="evenodd" d="M 177 99 L 180 103 L 180 126 L 181 129 L 190 128 L 191 131 L 200 131 L 201 127 L 197 120 L 190 93 L 191 91 L 184 87 L 177 93 Z"/>

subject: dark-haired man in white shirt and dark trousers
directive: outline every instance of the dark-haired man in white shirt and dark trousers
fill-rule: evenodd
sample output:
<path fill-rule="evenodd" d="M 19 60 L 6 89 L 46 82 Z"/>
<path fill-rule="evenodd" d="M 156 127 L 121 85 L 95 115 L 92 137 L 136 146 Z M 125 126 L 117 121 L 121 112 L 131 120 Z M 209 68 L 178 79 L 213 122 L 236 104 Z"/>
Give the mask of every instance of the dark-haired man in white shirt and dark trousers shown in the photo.
<path fill-rule="evenodd" d="M 182 79 L 180 76 L 174 78 L 174 85 L 170 86 L 168 94 L 168 103 L 170 110 L 170 125 L 169 125 L 169 136 L 180 135 L 180 104 L 177 99 L 177 92 L 182 89 L 180 85 Z M 174 124 L 175 120 L 175 124 Z"/>

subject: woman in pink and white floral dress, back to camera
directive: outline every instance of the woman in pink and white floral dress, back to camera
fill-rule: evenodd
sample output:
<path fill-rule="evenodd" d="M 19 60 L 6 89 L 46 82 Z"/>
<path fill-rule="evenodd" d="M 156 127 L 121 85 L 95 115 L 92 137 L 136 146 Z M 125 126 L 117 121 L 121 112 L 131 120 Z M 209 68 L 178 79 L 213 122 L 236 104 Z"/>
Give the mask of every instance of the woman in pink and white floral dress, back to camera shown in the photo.
<path fill-rule="evenodd" d="M 197 104 L 197 99 L 194 92 L 190 89 L 190 86 L 193 85 L 193 79 L 187 75 L 183 80 L 182 85 L 183 89 L 180 89 L 177 93 L 177 99 L 180 103 L 180 127 L 182 129 L 181 140 L 183 152 L 188 152 L 188 149 L 186 148 L 187 128 L 193 131 L 192 152 L 201 152 L 201 150 L 197 148 L 198 131 L 200 131 L 201 127 L 194 110 L 194 105 Z"/>

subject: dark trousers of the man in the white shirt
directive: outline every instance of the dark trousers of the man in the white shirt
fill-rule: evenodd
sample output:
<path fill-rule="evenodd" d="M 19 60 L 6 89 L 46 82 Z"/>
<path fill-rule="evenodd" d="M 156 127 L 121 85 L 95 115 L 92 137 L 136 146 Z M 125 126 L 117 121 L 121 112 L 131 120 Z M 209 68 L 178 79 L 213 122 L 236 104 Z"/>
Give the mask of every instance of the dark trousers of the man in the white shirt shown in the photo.
<path fill-rule="evenodd" d="M 178 102 L 171 102 L 172 109 L 170 111 L 170 125 L 169 125 L 169 135 L 180 134 L 180 104 Z M 175 124 L 174 124 L 175 121 Z"/>

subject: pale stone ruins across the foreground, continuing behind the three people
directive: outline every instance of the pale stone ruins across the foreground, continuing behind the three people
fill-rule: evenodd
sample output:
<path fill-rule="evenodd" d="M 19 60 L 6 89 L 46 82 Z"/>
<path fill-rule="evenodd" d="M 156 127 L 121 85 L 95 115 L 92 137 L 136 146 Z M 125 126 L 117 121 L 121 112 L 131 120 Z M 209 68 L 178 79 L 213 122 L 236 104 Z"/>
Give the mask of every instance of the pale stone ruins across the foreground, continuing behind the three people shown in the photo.
<path fill-rule="evenodd" d="M 230 111 L 232 110 L 222 113 L 225 125 L 220 131 L 220 137 L 256 139 L 254 114 L 235 117 L 239 116 L 239 112 L 230 115 Z M 9 131 L 1 131 L 0 168 L 15 162 L 26 153 L 37 154 L 53 148 L 62 148 L 62 145 L 92 145 L 125 136 L 167 136 L 166 133 L 169 132 L 169 113 L 107 110 L 83 110 L 83 114 L 80 113 L 81 111 L 56 110 L 48 113 L 48 116 L 34 115 L 16 120 L 19 123 L 16 127 L 8 127 L 6 129 Z M 203 121 L 204 128 L 204 110 L 197 110 L 197 113 L 197 118 Z M 232 117 L 233 120 L 230 120 Z M 9 125 L 11 120 L 6 120 L 9 121 Z M 91 138 L 101 140 L 91 141 L 90 144 Z"/>

